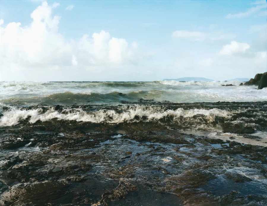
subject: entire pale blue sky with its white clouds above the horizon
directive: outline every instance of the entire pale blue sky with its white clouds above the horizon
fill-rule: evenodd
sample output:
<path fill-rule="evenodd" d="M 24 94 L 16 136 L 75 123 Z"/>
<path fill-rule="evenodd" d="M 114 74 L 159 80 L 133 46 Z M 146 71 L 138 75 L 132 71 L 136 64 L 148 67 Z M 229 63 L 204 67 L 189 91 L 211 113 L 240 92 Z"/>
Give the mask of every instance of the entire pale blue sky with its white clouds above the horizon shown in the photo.
<path fill-rule="evenodd" d="M 266 0 L 0 1 L 0 81 L 253 78 Z"/>

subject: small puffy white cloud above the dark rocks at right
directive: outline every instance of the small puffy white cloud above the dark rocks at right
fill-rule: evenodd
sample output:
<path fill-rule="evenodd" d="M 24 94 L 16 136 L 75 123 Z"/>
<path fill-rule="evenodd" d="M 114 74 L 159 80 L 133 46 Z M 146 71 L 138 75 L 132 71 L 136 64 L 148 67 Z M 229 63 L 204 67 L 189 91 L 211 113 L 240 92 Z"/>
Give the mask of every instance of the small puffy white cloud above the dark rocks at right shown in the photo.
<path fill-rule="evenodd" d="M 231 41 L 230 44 L 226 44 L 220 50 L 219 55 L 233 55 L 237 53 L 245 53 L 250 45 L 247 43 L 239 43 L 236 41 Z"/>

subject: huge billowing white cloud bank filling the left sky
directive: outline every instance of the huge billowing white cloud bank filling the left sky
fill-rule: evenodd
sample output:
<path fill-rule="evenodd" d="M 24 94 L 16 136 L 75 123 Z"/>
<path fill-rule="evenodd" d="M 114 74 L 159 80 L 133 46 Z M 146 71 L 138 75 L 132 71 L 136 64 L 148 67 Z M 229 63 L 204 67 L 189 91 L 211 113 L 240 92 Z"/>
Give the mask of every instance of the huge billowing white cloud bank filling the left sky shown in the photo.
<path fill-rule="evenodd" d="M 58 74 L 64 74 L 73 66 L 81 71 L 95 66 L 109 71 L 113 64 L 126 64 L 134 59 L 138 44 L 133 42 L 129 47 L 125 39 L 111 37 L 109 32 L 93 33 L 92 37 L 83 35 L 78 40 L 65 39 L 58 32 L 60 17 L 52 15 L 55 6 L 42 2 L 31 13 L 32 22 L 27 27 L 15 22 L 0 26 L 3 79 L 13 80 L 19 71 L 28 75 L 26 80 L 36 80 L 31 79 L 33 76 L 42 79 L 50 76 L 47 70 L 56 69 Z"/>

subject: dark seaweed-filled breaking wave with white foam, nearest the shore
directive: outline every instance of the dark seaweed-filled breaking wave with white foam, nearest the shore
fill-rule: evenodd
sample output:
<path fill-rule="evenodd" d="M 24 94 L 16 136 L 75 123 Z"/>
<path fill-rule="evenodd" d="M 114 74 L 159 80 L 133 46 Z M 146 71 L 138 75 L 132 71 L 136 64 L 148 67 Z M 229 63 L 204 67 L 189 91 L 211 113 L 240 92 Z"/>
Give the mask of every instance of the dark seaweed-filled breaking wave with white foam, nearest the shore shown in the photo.
<path fill-rule="evenodd" d="M 88 128 L 90 123 L 120 124 L 119 127 L 125 125 L 128 129 L 147 125 L 158 130 L 162 125 L 182 133 L 263 145 L 267 143 L 266 109 L 266 102 L 29 107 L 0 104 L 0 127 L 41 126 L 53 130 L 61 124 L 68 128 Z"/>

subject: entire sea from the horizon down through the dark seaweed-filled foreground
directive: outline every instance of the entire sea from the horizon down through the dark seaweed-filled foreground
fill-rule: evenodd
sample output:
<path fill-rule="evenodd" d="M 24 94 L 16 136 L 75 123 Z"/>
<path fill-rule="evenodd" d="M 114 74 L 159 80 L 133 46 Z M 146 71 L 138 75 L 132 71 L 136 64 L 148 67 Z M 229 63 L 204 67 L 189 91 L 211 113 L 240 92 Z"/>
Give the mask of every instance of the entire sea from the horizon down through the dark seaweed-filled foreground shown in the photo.
<path fill-rule="evenodd" d="M 267 205 L 267 88 L 240 83 L 0 82 L 0 205 Z"/>

